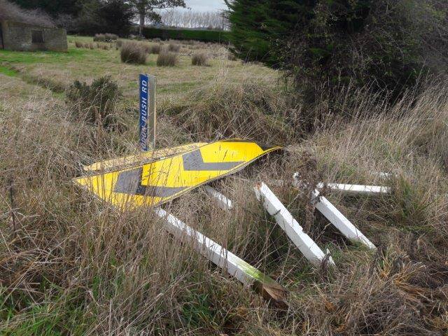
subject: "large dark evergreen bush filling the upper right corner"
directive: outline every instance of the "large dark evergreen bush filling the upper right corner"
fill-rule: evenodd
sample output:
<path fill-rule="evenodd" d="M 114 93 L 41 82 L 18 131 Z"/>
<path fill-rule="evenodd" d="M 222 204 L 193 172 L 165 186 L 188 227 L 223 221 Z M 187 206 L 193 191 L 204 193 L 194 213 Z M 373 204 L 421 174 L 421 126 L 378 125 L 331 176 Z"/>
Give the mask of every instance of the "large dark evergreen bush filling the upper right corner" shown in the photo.
<path fill-rule="evenodd" d="M 448 56 L 448 9 L 439 3 L 232 1 L 232 50 L 288 71 L 299 90 L 352 82 L 398 93 L 416 83 L 422 68 L 446 70 L 439 60 Z"/>

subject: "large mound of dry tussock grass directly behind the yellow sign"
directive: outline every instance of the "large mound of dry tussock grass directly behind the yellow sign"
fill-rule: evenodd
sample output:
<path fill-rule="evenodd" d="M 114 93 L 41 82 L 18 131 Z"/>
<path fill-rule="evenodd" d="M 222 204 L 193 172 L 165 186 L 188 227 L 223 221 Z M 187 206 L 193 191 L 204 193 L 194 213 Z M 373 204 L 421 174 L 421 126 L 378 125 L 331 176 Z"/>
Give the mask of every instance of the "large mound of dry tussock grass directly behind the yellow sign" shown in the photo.
<path fill-rule="evenodd" d="M 170 106 L 170 115 L 195 139 L 247 138 L 283 144 L 295 118 L 281 92 L 265 85 L 214 83 L 190 92 Z"/>

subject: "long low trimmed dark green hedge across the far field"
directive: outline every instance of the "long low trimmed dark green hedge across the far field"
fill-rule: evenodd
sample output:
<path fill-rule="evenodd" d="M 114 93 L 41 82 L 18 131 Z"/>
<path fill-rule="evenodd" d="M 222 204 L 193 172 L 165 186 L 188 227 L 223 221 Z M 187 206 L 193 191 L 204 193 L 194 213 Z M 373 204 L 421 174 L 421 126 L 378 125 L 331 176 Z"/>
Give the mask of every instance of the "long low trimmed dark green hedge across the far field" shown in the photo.
<path fill-rule="evenodd" d="M 196 29 L 161 29 L 145 27 L 143 34 L 146 38 L 169 38 L 177 40 L 197 40 L 204 42 L 228 43 L 230 36 L 228 31 L 196 30 Z"/>

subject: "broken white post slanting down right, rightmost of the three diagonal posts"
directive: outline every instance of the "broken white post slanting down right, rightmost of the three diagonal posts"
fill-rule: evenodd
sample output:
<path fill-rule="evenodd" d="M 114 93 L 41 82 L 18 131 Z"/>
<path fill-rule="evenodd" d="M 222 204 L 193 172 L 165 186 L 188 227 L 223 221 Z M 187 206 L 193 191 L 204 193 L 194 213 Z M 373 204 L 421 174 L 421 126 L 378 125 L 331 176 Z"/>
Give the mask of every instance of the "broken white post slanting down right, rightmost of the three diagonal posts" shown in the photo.
<path fill-rule="evenodd" d="M 296 188 L 301 188 L 301 183 L 297 180 L 296 174 L 294 174 L 294 186 Z M 319 195 L 318 190 L 313 191 L 312 198 L 313 199 L 311 202 L 316 202 L 316 209 L 321 211 L 321 214 L 323 214 L 323 216 L 325 216 L 325 218 L 327 218 L 332 225 L 335 225 L 337 230 L 339 230 L 347 239 L 354 242 L 360 242 L 368 248 L 376 248 L 374 244 L 372 244 L 372 242 L 351 223 L 351 221 L 349 221 L 343 214 L 341 214 L 339 210 L 336 209 L 333 204 L 330 203 L 330 201 Z"/>

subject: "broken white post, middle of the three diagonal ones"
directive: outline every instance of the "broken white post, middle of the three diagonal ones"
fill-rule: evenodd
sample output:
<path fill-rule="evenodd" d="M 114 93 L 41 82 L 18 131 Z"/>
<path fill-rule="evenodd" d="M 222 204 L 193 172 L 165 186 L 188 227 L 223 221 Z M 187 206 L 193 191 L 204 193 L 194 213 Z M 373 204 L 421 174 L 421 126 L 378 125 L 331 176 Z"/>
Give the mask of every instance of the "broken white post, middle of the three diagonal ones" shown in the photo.
<path fill-rule="evenodd" d="M 263 206 L 267 212 L 274 216 L 275 221 L 279 224 L 281 230 L 293 241 L 295 246 L 299 248 L 305 258 L 314 266 L 318 267 L 325 259 L 325 253 L 317 246 L 309 235 L 303 232 L 303 228 L 295 221 L 286 207 L 281 204 L 280 200 L 272 193 L 265 183 L 258 183 L 255 188 L 257 199 L 263 202 Z M 334 265 L 332 258 L 328 260 L 330 265 Z"/>

